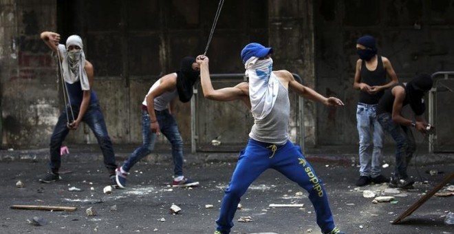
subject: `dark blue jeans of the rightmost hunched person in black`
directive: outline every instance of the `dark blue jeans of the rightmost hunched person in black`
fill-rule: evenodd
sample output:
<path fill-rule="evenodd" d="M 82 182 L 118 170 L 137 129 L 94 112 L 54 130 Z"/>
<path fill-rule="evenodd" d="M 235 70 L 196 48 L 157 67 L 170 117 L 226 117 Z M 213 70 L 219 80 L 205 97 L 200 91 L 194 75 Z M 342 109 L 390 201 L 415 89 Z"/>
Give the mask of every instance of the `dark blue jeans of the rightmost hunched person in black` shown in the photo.
<path fill-rule="evenodd" d="M 407 165 L 416 150 L 415 137 L 411 129 L 393 122 L 391 113 L 378 115 L 378 122 L 396 141 L 396 168 L 394 176 L 397 178 L 408 178 Z"/>

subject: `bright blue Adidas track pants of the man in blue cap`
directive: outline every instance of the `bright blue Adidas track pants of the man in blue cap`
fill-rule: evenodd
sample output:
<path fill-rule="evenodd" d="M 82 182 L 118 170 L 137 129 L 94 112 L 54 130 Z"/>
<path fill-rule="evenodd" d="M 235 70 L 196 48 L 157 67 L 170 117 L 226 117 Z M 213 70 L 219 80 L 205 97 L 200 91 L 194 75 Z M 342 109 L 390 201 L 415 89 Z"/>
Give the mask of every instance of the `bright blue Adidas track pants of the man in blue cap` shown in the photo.
<path fill-rule="evenodd" d="M 241 196 L 246 193 L 250 184 L 269 168 L 279 171 L 305 189 L 314 206 L 318 226 L 323 233 L 332 231 L 334 220 L 323 182 L 301 153 L 301 148 L 288 141 L 285 145 L 278 145 L 273 155 L 268 148 L 271 145 L 250 139 L 246 148 L 239 153 L 237 167 L 225 190 L 221 212 L 216 220 L 217 231 L 230 233 Z"/>

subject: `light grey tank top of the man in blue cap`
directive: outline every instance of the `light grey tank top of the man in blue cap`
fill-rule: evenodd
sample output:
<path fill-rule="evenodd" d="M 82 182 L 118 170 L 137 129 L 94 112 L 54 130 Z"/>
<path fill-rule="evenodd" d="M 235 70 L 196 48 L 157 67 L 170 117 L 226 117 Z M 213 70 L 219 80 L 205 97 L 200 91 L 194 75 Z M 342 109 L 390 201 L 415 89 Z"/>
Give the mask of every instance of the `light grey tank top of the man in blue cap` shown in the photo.
<path fill-rule="evenodd" d="M 288 98 L 288 90 L 279 81 L 279 91 L 270 114 L 261 120 L 254 120 L 249 137 L 259 142 L 283 145 L 288 140 L 289 119 L 290 100 Z"/>

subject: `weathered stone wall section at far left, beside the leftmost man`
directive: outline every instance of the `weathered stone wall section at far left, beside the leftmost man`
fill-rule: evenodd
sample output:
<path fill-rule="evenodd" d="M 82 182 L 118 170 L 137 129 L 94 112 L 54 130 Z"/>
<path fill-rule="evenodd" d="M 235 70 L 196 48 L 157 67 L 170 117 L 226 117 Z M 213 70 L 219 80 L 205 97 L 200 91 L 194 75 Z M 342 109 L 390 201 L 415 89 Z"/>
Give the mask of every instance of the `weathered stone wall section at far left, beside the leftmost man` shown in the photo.
<path fill-rule="evenodd" d="M 55 28 L 53 1 L 0 1 L 3 145 L 44 145 L 58 116 L 56 70 L 39 39 Z"/>

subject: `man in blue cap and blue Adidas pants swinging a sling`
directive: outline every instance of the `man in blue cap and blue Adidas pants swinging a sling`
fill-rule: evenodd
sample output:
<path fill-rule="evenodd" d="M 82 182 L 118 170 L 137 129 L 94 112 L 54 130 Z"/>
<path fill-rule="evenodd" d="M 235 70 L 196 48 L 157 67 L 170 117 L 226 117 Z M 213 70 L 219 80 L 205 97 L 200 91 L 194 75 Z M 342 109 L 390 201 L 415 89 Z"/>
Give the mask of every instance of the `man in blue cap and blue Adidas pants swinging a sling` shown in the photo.
<path fill-rule="evenodd" d="M 301 153 L 301 148 L 289 140 L 288 88 L 293 89 L 299 96 L 328 106 L 343 103 L 338 98 L 326 98 L 301 85 L 287 70 L 272 71 L 271 53 L 272 48 L 263 47 L 259 43 L 246 45 L 241 51 L 241 58 L 249 83 L 243 82 L 223 89 L 213 89 L 211 85 L 208 57 L 197 56 L 205 98 L 219 101 L 243 100 L 255 120 L 248 144 L 239 153 L 237 167 L 225 190 L 215 233 L 230 233 L 241 196 L 246 193 L 250 184 L 269 168 L 279 171 L 309 193 L 309 199 L 316 211 L 317 224 L 323 233 L 343 233 L 334 225 L 322 180 Z"/>

